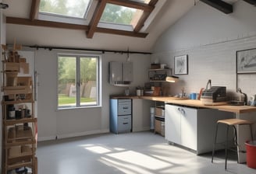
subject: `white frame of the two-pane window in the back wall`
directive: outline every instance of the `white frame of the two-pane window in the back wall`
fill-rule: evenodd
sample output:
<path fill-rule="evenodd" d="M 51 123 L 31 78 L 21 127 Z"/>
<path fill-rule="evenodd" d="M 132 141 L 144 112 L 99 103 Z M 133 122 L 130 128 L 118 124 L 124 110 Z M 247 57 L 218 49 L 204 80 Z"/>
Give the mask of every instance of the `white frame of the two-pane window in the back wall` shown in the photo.
<path fill-rule="evenodd" d="M 95 57 L 97 61 L 97 99 L 94 105 L 80 105 L 80 85 L 76 85 L 76 106 L 59 106 L 59 57 L 76 57 L 76 78 L 80 79 L 80 57 Z M 80 108 L 91 108 L 91 107 L 101 107 L 102 106 L 102 61 L 101 55 L 99 54 L 57 54 L 57 110 L 67 110 L 67 109 L 80 109 Z M 76 82 L 80 83 L 80 82 Z"/>

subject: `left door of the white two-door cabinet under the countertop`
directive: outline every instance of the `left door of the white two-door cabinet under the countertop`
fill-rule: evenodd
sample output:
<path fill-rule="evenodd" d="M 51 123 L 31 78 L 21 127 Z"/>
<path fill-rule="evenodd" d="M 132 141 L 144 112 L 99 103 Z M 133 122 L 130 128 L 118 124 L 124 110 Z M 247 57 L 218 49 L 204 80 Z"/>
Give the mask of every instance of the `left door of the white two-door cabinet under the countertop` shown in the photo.
<path fill-rule="evenodd" d="M 165 139 L 176 144 L 180 138 L 180 107 L 165 105 Z"/>

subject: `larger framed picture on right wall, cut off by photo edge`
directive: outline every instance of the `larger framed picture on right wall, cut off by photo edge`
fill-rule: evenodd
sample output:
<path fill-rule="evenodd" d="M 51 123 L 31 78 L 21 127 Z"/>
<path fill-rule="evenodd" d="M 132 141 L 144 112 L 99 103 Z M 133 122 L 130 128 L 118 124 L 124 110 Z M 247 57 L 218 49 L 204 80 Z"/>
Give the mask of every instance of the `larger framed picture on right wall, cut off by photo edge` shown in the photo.
<path fill-rule="evenodd" d="M 256 73 L 256 48 L 236 51 L 236 73 Z"/>

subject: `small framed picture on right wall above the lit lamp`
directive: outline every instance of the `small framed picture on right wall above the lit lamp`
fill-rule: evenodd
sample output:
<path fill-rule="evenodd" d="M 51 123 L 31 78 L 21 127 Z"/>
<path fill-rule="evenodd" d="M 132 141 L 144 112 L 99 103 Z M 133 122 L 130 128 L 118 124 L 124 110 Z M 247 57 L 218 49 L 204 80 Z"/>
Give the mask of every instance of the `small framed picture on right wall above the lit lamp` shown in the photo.
<path fill-rule="evenodd" d="M 188 57 L 187 55 L 174 57 L 174 74 L 175 75 L 187 75 L 188 74 L 187 57 Z"/>

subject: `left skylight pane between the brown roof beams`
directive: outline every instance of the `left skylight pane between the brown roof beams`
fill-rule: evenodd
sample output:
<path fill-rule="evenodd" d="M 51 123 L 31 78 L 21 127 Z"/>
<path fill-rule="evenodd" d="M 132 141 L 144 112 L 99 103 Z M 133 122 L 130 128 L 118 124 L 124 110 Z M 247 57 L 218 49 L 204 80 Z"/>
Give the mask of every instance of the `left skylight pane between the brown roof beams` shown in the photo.
<path fill-rule="evenodd" d="M 86 18 L 91 0 L 41 0 L 39 12 L 57 16 Z"/>

